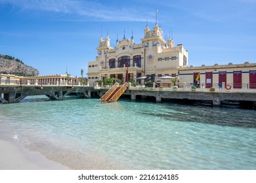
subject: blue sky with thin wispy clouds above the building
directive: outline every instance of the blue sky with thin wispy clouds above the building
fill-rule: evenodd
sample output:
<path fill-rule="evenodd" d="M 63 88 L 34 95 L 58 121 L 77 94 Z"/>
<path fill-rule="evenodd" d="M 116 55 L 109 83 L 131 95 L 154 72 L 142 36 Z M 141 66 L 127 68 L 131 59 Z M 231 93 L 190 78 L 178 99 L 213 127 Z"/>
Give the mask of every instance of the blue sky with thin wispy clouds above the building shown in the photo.
<path fill-rule="evenodd" d="M 40 75 L 87 73 L 107 32 L 140 43 L 156 8 L 164 37 L 188 50 L 189 65 L 256 63 L 256 0 L 0 0 L 0 54 L 21 59 Z"/>

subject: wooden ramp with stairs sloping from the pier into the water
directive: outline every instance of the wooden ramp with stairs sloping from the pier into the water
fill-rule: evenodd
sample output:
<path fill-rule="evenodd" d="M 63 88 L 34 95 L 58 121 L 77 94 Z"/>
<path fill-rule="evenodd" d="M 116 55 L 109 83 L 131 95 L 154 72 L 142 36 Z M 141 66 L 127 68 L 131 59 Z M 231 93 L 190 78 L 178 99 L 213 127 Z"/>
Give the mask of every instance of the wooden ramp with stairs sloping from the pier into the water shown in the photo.
<path fill-rule="evenodd" d="M 123 85 L 119 85 L 119 83 L 115 83 L 110 90 L 108 90 L 108 92 L 106 92 L 101 98 L 100 100 L 102 102 L 106 102 L 106 103 L 110 103 L 110 102 L 116 102 L 119 97 L 121 97 L 121 95 L 125 92 L 125 90 L 128 87 L 128 83 L 125 82 L 125 84 Z"/>

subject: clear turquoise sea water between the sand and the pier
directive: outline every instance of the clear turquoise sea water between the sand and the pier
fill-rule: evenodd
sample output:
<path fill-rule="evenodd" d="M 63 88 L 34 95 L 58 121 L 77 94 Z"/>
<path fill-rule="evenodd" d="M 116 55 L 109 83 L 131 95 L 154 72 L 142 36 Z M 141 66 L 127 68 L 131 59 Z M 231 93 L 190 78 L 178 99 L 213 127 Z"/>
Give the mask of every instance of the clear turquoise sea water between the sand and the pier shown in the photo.
<path fill-rule="evenodd" d="M 255 110 L 35 98 L 0 105 L 0 135 L 73 169 L 256 169 Z"/>

